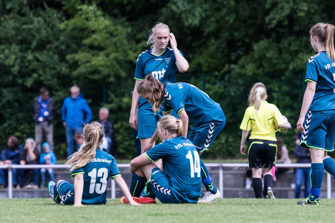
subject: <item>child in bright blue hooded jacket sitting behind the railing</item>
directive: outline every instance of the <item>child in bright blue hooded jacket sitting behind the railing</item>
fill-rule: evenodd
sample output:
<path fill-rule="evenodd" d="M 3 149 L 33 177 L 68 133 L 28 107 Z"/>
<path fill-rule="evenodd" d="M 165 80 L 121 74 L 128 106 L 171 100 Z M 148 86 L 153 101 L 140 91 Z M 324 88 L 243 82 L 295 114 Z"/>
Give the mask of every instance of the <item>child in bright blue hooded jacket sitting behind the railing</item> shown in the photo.
<path fill-rule="evenodd" d="M 52 151 L 51 145 L 48 142 L 42 144 L 42 154 L 40 156 L 40 164 L 56 164 L 56 155 Z M 45 173 L 48 171 L 50 181 L 54 181 L 54 169 L 42 168 L 41 169 L 41 188 L 45 186 Z"/>

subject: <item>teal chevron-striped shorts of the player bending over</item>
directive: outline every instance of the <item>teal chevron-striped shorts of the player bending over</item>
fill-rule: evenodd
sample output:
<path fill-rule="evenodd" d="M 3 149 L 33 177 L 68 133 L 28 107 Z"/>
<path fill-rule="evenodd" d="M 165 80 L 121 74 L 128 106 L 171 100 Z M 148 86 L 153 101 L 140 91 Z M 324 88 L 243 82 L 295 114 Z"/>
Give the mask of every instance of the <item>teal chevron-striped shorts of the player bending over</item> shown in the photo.
<path fill-rule="evenodd" d="M 213 143 L 216 136 L 222 131 L 226 121 L 221 124 L 214 122 L 194 123 L 187 137 L 198 152 L 206 151 Z"/>

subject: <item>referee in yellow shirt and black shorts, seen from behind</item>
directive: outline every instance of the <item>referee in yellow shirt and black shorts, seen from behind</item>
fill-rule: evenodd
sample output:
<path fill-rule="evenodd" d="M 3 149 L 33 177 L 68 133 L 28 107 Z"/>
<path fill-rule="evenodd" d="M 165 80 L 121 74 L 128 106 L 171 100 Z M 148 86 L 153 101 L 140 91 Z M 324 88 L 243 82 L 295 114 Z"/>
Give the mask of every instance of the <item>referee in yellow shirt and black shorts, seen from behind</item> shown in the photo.
<path fill-rule="evenodd" d="M 268 95 L 263 83 L 258 82 L 250 90 L 249 107 L 246 109 L 240 129 L 242 129 L 240 151 L 246 154 L 246 139 L 249 132 L 248 158 L 252 169 L 252 181 L 255 198 L 262 197 L 262 180 L 264 176 L 264 197 L 275 198 L 272 186 L 272 168 L 276 161 L 277 138 L 275 124 L 282 129 L 289 129 L 290 123 L 285 123 L 276 105 L 266 101 Z"/>

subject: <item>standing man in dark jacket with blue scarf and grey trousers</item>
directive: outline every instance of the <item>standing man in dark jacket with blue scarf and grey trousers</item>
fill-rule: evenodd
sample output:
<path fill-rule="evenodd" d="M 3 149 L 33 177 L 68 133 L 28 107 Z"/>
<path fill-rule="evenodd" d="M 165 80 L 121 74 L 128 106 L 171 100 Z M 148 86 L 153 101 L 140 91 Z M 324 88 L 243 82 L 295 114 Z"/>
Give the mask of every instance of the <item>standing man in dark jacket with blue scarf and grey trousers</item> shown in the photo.
<path fill-rule="evenodd" d="M 40 96 L 34 98 L 31 105 L 32 119 L 35 122 L 35 142 L 36 147 L 41 151 L 41 140 L 43 130 L 47 142 L 54 146 L 54 125 L 53 121 L 56 119 L 56 104 L 54 100 L 49 98 L 49 90 L 46 87 L 40 89 Z"/>

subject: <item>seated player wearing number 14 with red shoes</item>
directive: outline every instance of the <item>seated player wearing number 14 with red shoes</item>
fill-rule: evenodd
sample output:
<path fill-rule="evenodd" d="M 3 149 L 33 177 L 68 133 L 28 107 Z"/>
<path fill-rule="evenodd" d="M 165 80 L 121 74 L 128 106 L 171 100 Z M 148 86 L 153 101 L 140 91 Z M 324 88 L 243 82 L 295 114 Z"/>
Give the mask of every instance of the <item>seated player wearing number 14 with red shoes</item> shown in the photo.
<path fill-rule="evenodd" d="M 157 122 L 157 132 L 162 143 L 152 147 L 130 162 L 133 199 L 141 204 L 197 203 L 201 194 L 200 158 L 192 142 L 183 133 L 183 122 L 165 115 Z M 154 161 L 162 159 L 163 170 Z M 163 172 L 164 171 L 164 172 Z M 148 192 L 140 196 L 143 188 Z M 122 197 L 121 203 L 129 199 Z"/>

